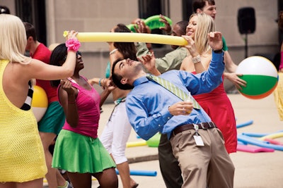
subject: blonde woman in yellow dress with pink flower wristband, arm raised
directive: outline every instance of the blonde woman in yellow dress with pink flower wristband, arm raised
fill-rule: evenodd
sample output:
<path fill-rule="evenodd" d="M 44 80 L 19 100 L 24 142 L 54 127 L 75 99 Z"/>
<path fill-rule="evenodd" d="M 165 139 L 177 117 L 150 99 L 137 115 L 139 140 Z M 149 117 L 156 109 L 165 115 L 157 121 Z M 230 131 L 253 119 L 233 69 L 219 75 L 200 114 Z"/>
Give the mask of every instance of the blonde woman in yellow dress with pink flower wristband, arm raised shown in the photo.
<path fill-rule="evenodd" d="M 0 14 L 0 25 L 0 187 L 38 188 L 47 168 L 37 121 L 30 109 L 31 80 L 73 75 L 80 44 L 77 32 L 68 32 L 66 62 L 62 67 L 47 65 L 23 55 L 27 39 L 20 18 Z"/>

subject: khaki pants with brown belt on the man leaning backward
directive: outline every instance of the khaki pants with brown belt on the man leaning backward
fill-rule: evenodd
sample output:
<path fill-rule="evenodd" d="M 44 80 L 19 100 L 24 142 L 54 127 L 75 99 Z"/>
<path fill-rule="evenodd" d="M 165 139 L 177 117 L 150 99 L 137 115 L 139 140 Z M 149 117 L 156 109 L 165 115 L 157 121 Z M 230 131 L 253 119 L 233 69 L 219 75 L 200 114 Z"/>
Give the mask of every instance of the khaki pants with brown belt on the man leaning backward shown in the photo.
<path fill-rule="evenodd" d="M 204 146 L 195 144 L 195 130 L 185 130 L 170 139 L 173 155 L 182 171 L 183 187 L 233 187 L 235 168 L 220 130 L 212 128 L 198 132 Z"/>

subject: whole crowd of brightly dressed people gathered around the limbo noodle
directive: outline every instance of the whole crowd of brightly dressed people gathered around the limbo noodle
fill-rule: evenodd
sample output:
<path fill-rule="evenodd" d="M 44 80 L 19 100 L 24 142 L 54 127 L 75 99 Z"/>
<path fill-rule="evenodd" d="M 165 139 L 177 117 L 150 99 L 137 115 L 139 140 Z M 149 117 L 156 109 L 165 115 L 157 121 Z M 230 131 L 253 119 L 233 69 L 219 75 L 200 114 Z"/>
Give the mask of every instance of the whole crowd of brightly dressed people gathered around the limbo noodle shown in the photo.
<path fill-rule="evenodd" d="M 189 20 L 173 27 L 160 15 L 160 30 L 187 45 L 172 45 L 156 58 L 149 43 L 108 42 L 108 73 L 91 79 L 80 74 L 78 32 L 67 32 L 66 42 L 50 51 L 32 24 L 1 7 L 0 35 L 6 37 L 0 41 L 0 188 L 38 188 L 44 177 L 50 188 L 91 187 L 92 177 L 100 187 L 114 188 L 115 168 L 122 187 L 138 187 L 125 156 L 132 130 L 143 139 L 161 133 L 158 160 L 166 187 L 233 187 L 229 153 L 236 152 L 236 120 L 223 80 L 237 89 L 246 82 L 215 30 L 215 1 L 195 0 L 192 6 Z M 133 23 L 136 32 L 151 33 L 142 19 Z M 119 23 L 110 32 L 131 30 Z M 38 122 L 31 109 L 35 84 L 48 98 Z M 98 135 L 101 106 L 110 94 L 115 107 Z"/>

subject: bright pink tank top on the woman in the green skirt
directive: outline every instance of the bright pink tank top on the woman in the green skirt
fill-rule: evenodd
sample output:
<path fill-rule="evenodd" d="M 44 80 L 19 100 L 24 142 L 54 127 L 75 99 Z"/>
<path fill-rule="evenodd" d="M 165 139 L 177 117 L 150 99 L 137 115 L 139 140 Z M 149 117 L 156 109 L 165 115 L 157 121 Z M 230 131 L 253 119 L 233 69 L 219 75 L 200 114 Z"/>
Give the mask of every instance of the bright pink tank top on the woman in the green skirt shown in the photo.
<path fill-rule="evenodd" d="M 83 79 L 86 80 L 85 77 Z M 78 96 L 76 97 L 76 106 L 79 113 L 79 123 L 76 127 L 71 127 L 67 120 L 65 120 L 62 129 L 83 134 L 87 137 L 98 137 L 98 123 L 100 118 L 100 95 L 91 87 L 91 90 L 84 89 L 79 86 L 73 79 L 68 78 L 72 82 L 72 86 L 78 89 Z M 87 81 L 87 80 L 86 80 Z M 60 87 L 60 86 L 59 86 Z M 58 87 L 58 89 L 59 89 Z"/>

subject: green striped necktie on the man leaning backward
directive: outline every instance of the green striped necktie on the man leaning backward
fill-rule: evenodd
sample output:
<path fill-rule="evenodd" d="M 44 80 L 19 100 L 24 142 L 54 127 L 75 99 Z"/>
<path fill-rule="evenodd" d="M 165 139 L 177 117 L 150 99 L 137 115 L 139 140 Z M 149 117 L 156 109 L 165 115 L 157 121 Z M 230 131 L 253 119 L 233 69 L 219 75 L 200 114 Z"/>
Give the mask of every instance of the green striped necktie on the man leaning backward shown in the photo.
<path fill-rule="evenodd" d="M 176 87 L 175 84 L 163 79 L 162 77 L 158 77 L 155 75 L 146 75 L 146 77 L 149 80 L 160 84 L 162 87 L 166 88 L 169 92 L 175 94 L 175 96 L 178 96 L 183 101 L 187 101 L 188 99 L 190 99 L 190 101 L 192 101 L 192 106 L 196 109 L 200 109 L 200 104 L 197 103 L 197 101 L 192 97 L 192 95 L 185 93 L 182 89 Z"/>

